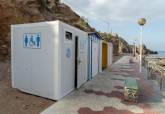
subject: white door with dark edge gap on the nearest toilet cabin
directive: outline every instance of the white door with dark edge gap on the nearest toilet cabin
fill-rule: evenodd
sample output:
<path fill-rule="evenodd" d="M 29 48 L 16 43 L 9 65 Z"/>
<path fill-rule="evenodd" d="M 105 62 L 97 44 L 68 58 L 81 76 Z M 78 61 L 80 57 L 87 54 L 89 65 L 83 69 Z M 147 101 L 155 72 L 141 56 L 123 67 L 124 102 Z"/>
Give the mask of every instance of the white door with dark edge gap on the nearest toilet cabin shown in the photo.
<path fill-rule="evenodd" d="M 87 81 L 87 40 L 75 38 L 75 88 Z"/>

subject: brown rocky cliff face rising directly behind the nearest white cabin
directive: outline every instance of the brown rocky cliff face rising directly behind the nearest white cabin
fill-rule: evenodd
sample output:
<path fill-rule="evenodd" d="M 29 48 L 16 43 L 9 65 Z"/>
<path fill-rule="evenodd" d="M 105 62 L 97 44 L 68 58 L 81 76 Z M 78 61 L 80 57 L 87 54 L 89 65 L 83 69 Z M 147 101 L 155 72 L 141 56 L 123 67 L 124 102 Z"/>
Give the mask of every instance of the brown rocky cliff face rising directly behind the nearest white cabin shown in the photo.
<path fill-rule="evenodd" d="M 0 55 L 10 55 L 10 25 L 62 20 L 84 31 L 95 31 L 89 24 L 58 0 L 1 0 Z"/>

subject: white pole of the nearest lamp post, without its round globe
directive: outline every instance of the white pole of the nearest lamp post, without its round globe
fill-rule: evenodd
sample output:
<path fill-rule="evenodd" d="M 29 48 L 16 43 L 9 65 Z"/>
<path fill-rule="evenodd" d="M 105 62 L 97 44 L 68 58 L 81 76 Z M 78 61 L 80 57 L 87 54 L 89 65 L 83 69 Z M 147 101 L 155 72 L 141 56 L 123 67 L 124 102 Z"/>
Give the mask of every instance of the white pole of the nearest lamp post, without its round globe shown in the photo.
<path fill-rule="evenodd" d="M 143 26 L 141 26 L 140 32 L 140 63 L 139 63 L 139 72 L 142 72 L 142 48 L 143 48 Z"/>

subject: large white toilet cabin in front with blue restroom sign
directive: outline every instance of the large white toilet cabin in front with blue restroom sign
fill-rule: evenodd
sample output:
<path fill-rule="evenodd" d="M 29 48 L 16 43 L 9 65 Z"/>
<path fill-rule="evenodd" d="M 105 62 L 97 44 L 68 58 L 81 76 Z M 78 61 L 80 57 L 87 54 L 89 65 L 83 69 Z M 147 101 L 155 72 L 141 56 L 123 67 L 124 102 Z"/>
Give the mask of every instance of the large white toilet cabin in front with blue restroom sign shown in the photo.
<path fill-rule="evenodd" d="M 11 26 L 12 87 L 59 100 L 87 81 L 88 34 L 61 21 Z"/>

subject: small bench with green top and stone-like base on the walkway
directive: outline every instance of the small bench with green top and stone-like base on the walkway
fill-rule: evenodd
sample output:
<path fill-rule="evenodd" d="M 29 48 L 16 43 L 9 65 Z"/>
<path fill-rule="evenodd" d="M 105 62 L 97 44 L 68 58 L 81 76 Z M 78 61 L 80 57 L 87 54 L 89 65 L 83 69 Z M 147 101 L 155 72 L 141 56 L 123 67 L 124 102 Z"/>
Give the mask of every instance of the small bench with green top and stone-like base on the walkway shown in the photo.
<path fill-rule="evenodd" d="M 124 85 L 124 100 L 138 102 L 139 87 L 135 78 L 127 77 Z"/>

